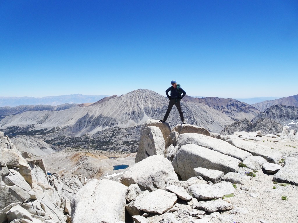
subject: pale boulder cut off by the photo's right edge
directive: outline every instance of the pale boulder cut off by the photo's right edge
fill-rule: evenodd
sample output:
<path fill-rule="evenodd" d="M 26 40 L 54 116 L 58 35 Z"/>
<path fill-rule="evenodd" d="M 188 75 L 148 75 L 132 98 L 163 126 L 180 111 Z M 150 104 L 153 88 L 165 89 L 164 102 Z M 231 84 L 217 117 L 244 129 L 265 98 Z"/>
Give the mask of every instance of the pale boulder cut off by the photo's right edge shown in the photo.
<path fill-rule="evenodd" d="M 285 166 L 274 174 L 273 180 L 298 186 L 298 159 L 285 157 Z"/>

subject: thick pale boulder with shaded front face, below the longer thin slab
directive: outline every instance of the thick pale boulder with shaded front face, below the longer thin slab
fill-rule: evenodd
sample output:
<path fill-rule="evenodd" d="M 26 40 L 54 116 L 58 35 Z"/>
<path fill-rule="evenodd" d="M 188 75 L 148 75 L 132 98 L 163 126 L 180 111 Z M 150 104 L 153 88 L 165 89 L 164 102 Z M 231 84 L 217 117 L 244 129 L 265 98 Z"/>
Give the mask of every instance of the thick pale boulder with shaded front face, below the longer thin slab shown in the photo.
<path fill-rule="evenodd" d="M 182 180 L 195 177 L 194 168 L 204 167 L 224 173 L 237 172 L 240 160 L 198 145 L 183 145 L 177 152 L 173 167 Z"/>

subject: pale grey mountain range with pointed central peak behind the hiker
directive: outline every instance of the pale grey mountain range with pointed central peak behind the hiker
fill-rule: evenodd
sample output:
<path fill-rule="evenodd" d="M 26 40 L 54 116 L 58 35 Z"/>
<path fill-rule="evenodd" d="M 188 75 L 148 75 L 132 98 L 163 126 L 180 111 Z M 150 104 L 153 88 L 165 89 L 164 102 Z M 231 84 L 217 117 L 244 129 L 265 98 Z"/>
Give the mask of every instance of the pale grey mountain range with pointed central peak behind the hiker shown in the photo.
<path fill-rule="evenodd" d="M 295 104 L 296 96 L 283 98 L 282 102 Z M 279 102 L 278 99 L 268 102 L 274 101 Z M 34 136 L 58 147 L 135 152 L 140 125 L 148 119 L 162 119 L 168 106 L 166 97 L 148 89 L 134 90 L 121 96 L 108 96 L 93 103 L 85 102 L 59 106 L 1 107 L 0 130 L 10 135 Z M 298 103 L 295 105 L 297 109 Z M 293 122 L 294 125 L 294 121 L 290 119 L 296 120 L 295 107 L 280 106 L 260 112 L 254 106 L 232 98 L 194 98 L 186 95 L 181 100 L 181 109 L 187 123 L 216 133 L 235 121 L 246 119 L 246 123 L 249 123 L 255 117 L 262 119 L 255 127 L 258 128 L 261 124 L 265 131 L 269 124 L 274 127 L 272 131 L 280 129 L 271 120 L 281 124 Z M 171 127 L 181 123 L 175 106 L 167 122 Z M 238 128 L 237 126 L 239 125 L 234 125 L 233 128 Z"/>

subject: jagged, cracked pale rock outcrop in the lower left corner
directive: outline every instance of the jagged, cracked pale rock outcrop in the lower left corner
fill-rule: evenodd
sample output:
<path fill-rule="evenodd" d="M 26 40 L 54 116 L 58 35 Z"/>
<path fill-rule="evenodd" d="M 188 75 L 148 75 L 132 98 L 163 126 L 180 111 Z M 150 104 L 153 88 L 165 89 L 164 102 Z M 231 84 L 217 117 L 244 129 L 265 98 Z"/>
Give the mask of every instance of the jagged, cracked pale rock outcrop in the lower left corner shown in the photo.
<path fill-rule="evenodd" d="M 21 153 L 0 132 L 0 222 L 71 222 L 70 201 L 84 184 L 81 176 L 48 175 L 42 159 Z"/>

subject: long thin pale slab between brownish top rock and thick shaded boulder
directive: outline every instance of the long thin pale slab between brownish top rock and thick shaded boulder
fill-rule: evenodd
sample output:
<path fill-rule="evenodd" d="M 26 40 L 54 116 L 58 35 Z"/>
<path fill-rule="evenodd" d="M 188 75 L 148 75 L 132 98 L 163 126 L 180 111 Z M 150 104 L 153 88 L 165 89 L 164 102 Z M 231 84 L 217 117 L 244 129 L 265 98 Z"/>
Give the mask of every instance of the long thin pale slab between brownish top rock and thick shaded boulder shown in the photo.
<path fill-rule="evenodd" d="M 243 161 L 246 157 L 252 156 L 251 153 L 238 149 L 235 146 L 221 140 L 215 139 L 211 136 L 205 136 L 202 134 L 186 133 L 180 134 L 177 137 L 177 146 L 183 146 L 186 144 L 195 144 L 201 147 L 217 151 L 219 153 L 234 157 Z"/>

